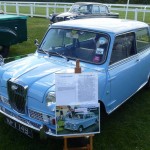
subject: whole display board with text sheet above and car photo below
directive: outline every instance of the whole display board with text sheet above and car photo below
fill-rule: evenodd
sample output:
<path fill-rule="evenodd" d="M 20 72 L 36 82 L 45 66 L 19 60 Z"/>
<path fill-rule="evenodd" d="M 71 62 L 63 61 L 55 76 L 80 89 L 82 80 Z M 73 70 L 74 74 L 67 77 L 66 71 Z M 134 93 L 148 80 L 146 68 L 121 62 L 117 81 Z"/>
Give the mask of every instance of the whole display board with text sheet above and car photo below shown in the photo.
<path fill-rule="evenodd" d="M 94 73 L 55 76 L 56 133 L 58 136 L 100 132 L 98 76 Z"/>

